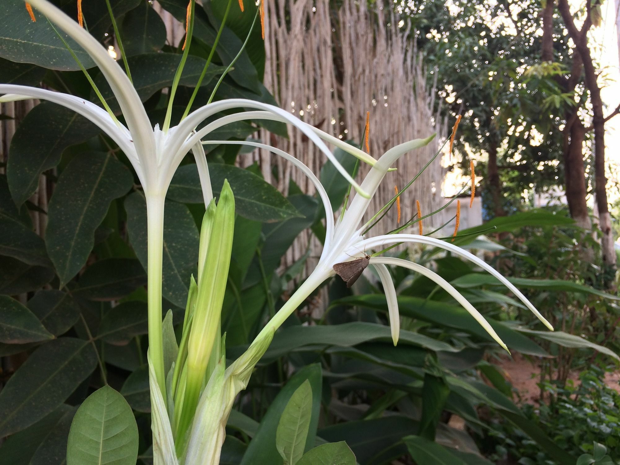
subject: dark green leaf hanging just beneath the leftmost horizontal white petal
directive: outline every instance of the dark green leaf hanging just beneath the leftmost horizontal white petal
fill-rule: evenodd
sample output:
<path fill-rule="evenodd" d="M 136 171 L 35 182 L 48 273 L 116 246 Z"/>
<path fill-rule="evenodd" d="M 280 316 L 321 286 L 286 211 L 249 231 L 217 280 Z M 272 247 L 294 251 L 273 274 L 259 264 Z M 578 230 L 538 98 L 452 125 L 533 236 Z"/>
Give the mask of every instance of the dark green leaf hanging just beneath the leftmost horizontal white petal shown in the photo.
<path fill-rule="evenodd" d="M 42 102 L 30 110 L 9 148 L 7 178 L 15 203 L 22 205 L 35 192 L 39 175 L 60 162 L 64 149 L 97 133 L 97 126 L 60 105 Z"/>

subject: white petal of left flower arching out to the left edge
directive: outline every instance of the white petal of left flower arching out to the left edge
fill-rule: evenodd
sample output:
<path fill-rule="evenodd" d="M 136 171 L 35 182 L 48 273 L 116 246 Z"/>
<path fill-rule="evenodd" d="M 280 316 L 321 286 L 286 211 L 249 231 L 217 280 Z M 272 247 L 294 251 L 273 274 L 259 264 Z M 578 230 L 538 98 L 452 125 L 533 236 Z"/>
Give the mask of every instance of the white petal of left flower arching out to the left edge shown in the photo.
<path fill-rule="evenodd" d="M 48 100 L 63 107 L 69 108 L 74 112 L 87 118 L 104 131 L 125 153 L 131 164 L 136 170 L 141 182 L 144 182 L 143 166 L 139 162 L 134 144 L 131 142 L 130 132 L 119 122 L 115 122 L 110 115 L 101 107 L 88 100 L 81 99 L 75 95 L 63 94 L 62 92 L 52 92 L 38 87 L 15 86 L 13 84 L 0 84 L 0 93 L 6 92 L 7 95 L 0 97 L 0 102 L 12 102 L 14 100 L 41 99 Z"/>

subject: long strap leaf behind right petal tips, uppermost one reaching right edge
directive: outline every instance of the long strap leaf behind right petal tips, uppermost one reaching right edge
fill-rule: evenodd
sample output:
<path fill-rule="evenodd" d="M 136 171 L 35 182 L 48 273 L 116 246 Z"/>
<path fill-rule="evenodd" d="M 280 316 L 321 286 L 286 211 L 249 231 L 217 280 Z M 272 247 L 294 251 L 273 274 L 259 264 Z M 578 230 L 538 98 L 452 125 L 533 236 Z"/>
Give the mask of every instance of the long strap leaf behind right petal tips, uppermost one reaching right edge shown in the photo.
<path fill-rule="evenodd" d="M 519 288 L 539 289 L 544 291 L 578 292 L 580 294 L 593 294 L 611 300 L 620 300 L 619 296 L 608 294 L 591 286 L 573 283 L 572 281 L 512 277 L 508 277 L 507 280 Z M 461 288 L 472 288 L 484 285 L 503 286 L 500 281 L 486 273 L 470 273 L 469 275 L 461 276 L 460 278 L 452 281 L 452 284 Z"/>

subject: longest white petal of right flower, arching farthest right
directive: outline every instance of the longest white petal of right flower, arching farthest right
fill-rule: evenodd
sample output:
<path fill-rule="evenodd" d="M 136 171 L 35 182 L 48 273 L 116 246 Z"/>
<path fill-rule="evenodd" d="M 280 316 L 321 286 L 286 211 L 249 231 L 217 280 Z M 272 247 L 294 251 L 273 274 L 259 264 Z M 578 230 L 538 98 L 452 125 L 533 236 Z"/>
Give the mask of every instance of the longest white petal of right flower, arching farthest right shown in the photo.
<path fill-rule="evenodd" d="M 513 283 L 500 275 L 500 273 L 498 273 L 495 268 L 484 262 L 484 260 L 480 260 L 478 257 L 476 257 L 476 255 L 467 252 L 467 250 L 461 249 L 461 247 L 454 246 L 449 242 L 440 241 L 439 239 L 435 239 L 434 237 L 418 236 L 417 234 L 386 234 L 384 236 L 371 237 L 370 239 L 361 241 L 359 244 L 357 244 L 357 246 L 367 247 L 368 249 L 371 249 L 373 247 L 381 247 L 387 244 L 396 244 L 396 242 L 414 242 L 417 244 L 427 244 L 428 246 L 440 247 L 440 249 L 449 250 L 456 255 L 471 260 L 472 262 L 476 263 L 476 265 L 478 265 L 480 268 L 483 268 L 484 270 L 492 274 L 495 278 L 500 280 L 502 284 L 505 285 L 508 289 L 510 289 L 510 291 L 512 291 L 512 293 L 515 294 L 515 296 L 517 296 L 521 300 L 521 302 L 523 302 L 527 306 L 527 308 L 529 308 L 529 310 L 533 312 L 533 314 L 536 315 L 536 317 L 538 317 L 538 319 L 544 323 L 547 328 L 553 330 L 552 325 L 545 319 L 544 316 L 540 314 L 540 312 L 536 309 L 536 307 L 533 306 L 533 304 L 528 300 L 528 298 L 526 298 L 526 296 L 524 296 L 523 293 L 521 293 L 521 291 L 518 290 L 515 285 L 513 285 Z"/>

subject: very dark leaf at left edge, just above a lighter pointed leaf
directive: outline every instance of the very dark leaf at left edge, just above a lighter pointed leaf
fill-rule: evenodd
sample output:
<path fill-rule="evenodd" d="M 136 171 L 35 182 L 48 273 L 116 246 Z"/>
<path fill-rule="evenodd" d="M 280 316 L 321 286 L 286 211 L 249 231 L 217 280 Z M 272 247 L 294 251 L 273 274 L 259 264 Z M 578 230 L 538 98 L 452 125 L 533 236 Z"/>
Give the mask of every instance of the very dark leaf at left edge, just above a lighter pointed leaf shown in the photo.
<path fill-rule="evenodd" d="M 11 257 L 0 257 L 0 294 L 14 296 L 35 291 L 54 277 L 51 268 L 30 266 Z"/>

